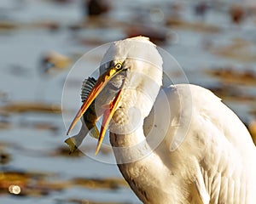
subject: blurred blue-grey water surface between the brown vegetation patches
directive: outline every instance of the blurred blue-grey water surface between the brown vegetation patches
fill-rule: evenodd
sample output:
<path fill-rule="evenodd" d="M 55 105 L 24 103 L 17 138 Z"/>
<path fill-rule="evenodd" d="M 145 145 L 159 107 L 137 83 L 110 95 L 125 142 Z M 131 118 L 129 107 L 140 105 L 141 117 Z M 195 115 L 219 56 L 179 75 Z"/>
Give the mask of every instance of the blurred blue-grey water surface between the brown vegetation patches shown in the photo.
<path fill-rule="evenodd" d="M 68 122 L 63 122 L 61 113 L 55 111 L 55 107 L 61 106 L 62 88 L 75 59 L 102 43 L 126 37 L 125 29 L 134 26 L 132 22 L 158 26 L 158 31 L 163 29 L 167 36 L 171 35 L 166 42 L 156 43 L 177 59 L 189 82 L 211 88 L 213 91 L 216 87 L 224 87 L 224 94 L 220 96 L 224 102 L 236 111 L 246 124 L 253 120 L 255 116 L 249 112 L 256 108 L 255 83 L 248 85 L 224 82 L 223 78 L 212 77 L 208 72 L 218 71 L 219 68 L 227 70 L 231 67 L 236 71 L 250 70 L 256 73 L 256 58 L 247 59 L 248 54 L 254 54 L 256 48 L 255 16 L 247 18 L 241 25 L 234 25 L 230 23 L 227 14 L 229 2 L 214 5 L 214 9 L 210 9 L 203 20 L 195 16 L 193 12 L 195 3 L 192 2 L 164 0 L 149 4 L 148 1 L 143 0 L 135 2 L 134 4 L 126 1 L 113 2 L 112 10 L 107 14 L 111 18 L 109 21 L 112 21 L 108 26 L 92 23 L 77 31 L 71 31 L 69 26 L 78 25 L 83 17 L 82 3 L 78 0 L 70 3 L 39 0 L 1 1 L 0 9 L 3 12 L 0 15 L 0 22 L 4 21 L 16 26 L 11 29 L 0 28 L 1 161 L 6 155 L 9 156 L 9 161 L 0 166 L 3 172 L 0 174 L 1 203 L 29 204 L 35 201 L 44 204 L 82 203 L 87 200 L 100 203 L 140 203 L 127 185 L 117 185 L 115 189 L 110 187 L 102 189 L 94 183 L 92 187 L 73 184 L 73 178 L 104 180 L 122 177 L 115 165 L 95 161 L 84 155 L 69 156 L 67 146 L 64 144 L 67 138 L 65 124 L 67 125 Z M 191 28 L 188 25 L 166 26 L 165 21 L 172 14 L 173 3 L 181 7 L 178 13 L 185 22 L 217 26 L 219 31 L 193 29 L 193 26 Z M 157 8 L 156 13 L 153 12 L 155 8 Z M 103 19 L 103 23 L 106 24 L 108 19 L 106 17 Z M 49 29 L 46 21 L 54 23 L 58 28 Z M 237 45 L 237 39 L 241 44 Z M 223 52 L 224 48 L 234 43 L 236 54 L 230 56 Z M 230 51 L 234 51 L 232 48 Z M 68 56 L 72 63 L 54 74 L 43 73 L 40 60 L 49 51 Z M 96 66 L 99 60 L 98 56 L 92 56 L 87 65 Z M 170 75 L 175 77 L 175 82 L 183 82 L 178 70 L 173 69 Z M 79 77 L 69 78 L 68 91 L 71 94 L 79 91 Z M 226 86 L 235 90 L 234 97 L 227 97 L 230 90 Z M 241 93 L 245 96 L 249 95 L 251 99 L 238 99 Z M 77 98 L 79 99 L 79 96 Z M 29 110 L 29 108 L 24 108 L 23 112 L 14 111 L 14 108 L 12 111 L 4 111 L 5 105 L 20 104 L 20 102 L 44 103 L 49 106 L 51 113 Z M 79 108 L 78 103 L 79 101 L 70 98 L 66 101 L 63 111 L 66 111 L 70 118 L 73 117 Z M 78 129 L 79 127 L 76 127 L 73 133 Z M 91 139 L 90 142 L 85 148 L 88 154 L 93 155 L 96 141 Z M 101 158 L 104 161 L 111 161 L 112 153 L 108 153 L 108 150 L 106 152 L 100 155 Z M 9 172 L 46 175 L 43 178 L 37 176 L 32 178 L 30 175 L 26 181 L 17 178 L 4 185 L 3 181 L 6 182 L 5 178 Z M 40 182 L 44 182 L 45 186 Z M 21 193 L 11 194 L 8 190 L 10 184 L 20 185 Z M 61 184 L 61 190 L 56 190 L 53 184 Z"/>

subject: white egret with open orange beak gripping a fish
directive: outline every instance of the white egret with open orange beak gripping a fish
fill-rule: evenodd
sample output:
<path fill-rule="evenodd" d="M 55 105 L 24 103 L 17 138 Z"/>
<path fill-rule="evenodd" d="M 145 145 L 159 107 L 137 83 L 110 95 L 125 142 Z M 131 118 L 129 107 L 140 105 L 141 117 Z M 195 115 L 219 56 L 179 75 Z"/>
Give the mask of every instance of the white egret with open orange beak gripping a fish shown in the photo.
<path fill-rule="evenodd" d="M 206 88 L 162 88 L 162 59 L 147 37 L 114 42 L 108 59 L 68 132 L 122 73 L 97 150 L 109 123 L 119 170 L 143 203 L 256 202 L 256 149 L 233 111 Z"/>

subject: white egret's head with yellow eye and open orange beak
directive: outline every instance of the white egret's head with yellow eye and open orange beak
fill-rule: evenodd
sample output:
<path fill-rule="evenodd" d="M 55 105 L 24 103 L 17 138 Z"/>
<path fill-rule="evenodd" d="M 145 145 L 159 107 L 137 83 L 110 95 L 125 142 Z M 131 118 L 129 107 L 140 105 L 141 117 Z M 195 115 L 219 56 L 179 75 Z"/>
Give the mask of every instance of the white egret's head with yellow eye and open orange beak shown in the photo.
<path fill-rule="evenodd" d="M 125 90 L 132 90 L 134 94 L 137 94 L 138 91 L 148 93 L 154 103 L 161 83 L 162 59 L 154 43 L 150 42 L 148 37 L 132 37 L 113 42 L 102 59 L 100 77 L 97 79 L 94 88 L 91 89 L 90 94 L 84 100 L 79 112 L 73 119 L 67 134 L 73 129 L 79 118 L 83 116 L 90 104 L 99 96 L 103 88 L 116 88 L 117 94 L 114 99 L 106 107 L 103 107 L 105 111 L 103 113 L 102 129 L 96 148 L 97 152 L 102 144 L 106 127 L 108 127 L 108 123 L 113 117 L 114 112 L 122 104 L 131 104 L 131 98 L 126 99 L 126 102 L 122 103 L 125 99 Z M 111 84 L 111 86 L 107 86 L 107 84 Z M 125 95 L 126 98 L 127 96 L 130 97 L 132 95 L 131 91 L 127 91 Z M 151 108 L 152 105 L 148 107 L 144 115 L 147 115 Z"/>

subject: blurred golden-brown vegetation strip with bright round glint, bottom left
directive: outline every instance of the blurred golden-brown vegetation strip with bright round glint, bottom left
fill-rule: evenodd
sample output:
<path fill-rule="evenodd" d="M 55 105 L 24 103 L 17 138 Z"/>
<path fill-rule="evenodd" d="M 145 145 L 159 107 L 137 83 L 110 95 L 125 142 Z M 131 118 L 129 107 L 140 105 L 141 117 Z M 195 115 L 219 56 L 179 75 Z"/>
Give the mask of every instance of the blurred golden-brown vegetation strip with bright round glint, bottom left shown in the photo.
<path fill-rule="evenodd" d="M 126 188 L 123 178 L 71 178 L 55 180 L 53 173 L 0 171 L 0 195 L 44 196 L 67 188 L 80 187 L 94 190 Z"/>

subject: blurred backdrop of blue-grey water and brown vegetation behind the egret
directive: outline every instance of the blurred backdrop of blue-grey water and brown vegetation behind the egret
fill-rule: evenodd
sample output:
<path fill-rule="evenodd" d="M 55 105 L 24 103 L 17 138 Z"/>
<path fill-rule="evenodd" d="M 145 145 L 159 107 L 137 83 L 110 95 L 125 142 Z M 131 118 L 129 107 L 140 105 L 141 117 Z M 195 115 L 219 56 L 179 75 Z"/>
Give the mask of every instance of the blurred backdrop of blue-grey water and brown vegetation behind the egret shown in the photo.
<path fill-rule="evenodd" d="M 256 138 L 254 0 L 1 0 L 1 203 L 140 203 L 115 165 L 69 154 L 61 116 L 74 62 L 138 35 L 172 54 L 189 82 L 223 99 Z M 68 88 L 80 84 L 74 77 Z M 62 111 L 79 108 L 72 104 Z"/>

